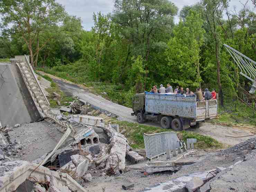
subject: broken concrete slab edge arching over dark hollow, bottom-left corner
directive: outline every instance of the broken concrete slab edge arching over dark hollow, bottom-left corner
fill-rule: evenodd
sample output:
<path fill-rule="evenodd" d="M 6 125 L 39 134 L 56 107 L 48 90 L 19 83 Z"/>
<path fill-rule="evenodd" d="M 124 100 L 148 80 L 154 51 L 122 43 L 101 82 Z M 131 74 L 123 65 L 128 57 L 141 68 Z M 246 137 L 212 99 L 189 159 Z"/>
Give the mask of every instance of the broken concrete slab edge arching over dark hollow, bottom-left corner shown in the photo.
<path fill-rule="evenodd" d="M 9 171 L 0 172 L 0 192 L 15 191 L 25 180 L 35 182 L 34 178 L 37 181 L 47 180 L 46 182 L 49 182 L 50 186 L 54 186 L 58 191 L 86 192 L 66 173 L 51 171 L 44 166 L 38 166 L 38 164 L 27 161 L 11 161 L 4 164 Z M 66 185 L 67 183 L 68 185 Z"/>

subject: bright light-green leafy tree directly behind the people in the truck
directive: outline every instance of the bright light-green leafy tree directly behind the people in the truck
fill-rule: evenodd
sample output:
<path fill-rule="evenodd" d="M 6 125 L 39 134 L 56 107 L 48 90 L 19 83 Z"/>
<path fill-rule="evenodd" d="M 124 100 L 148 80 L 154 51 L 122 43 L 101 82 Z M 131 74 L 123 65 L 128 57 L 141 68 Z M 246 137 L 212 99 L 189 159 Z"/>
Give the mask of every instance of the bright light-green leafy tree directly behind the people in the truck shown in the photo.
<path fill-rule="evenodd" d="M 173 30 L 173 37 L 168 42 L 168 68 L 172 71 L 170 78 L 179 85 L 198 87 L 202 82 L 200 76 L 200 50 L 204 42 L 204 29 L 201 15 L 190 10 L 185 22 L 180 20 Z"/>

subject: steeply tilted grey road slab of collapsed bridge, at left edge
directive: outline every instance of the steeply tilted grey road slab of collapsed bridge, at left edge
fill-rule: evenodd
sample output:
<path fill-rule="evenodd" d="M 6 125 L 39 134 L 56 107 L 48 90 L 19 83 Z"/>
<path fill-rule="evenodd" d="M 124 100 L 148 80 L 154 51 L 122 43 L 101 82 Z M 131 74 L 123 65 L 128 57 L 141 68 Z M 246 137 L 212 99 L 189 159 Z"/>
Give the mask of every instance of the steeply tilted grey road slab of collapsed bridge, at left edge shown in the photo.
<path fill-rule="evenodd" d="M 15 64 L 0 63 L 0 109 L 2 126 L 30 123 L 40 118 Z"/>

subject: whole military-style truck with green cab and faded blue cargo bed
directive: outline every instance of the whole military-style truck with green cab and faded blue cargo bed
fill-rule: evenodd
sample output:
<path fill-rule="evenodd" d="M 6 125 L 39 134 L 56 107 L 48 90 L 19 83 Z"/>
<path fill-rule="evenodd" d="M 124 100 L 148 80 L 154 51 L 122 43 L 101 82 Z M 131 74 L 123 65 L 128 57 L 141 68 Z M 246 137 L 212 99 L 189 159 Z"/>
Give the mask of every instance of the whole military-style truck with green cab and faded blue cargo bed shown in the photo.
<path fill-rule="evenodd" d="M 132 109 L 138 123 L 160 122 L 163 128 L 181 131 L 198 128 L 205 119 L 218 116 L 217 99 L 196 100 L 196 95 L 140 93 L 132 98 Z"/>

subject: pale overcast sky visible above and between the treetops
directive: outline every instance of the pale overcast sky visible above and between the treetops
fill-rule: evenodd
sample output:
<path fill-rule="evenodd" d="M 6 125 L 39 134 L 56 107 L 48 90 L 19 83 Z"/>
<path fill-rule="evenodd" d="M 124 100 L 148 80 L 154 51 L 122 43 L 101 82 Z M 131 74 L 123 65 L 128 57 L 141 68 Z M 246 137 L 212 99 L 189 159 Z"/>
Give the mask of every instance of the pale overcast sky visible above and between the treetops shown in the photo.
<path fill-rule="evenodd" d="M 92 14 L 93 12 L 102 12 L 103 14 L 107 14 L 113 10 L 113 1 L 114 0 L 57 0 L 63 6 L 65 6 L 66 11 L 70 15 L 75 15 L 81 17 L 82 25 L 84 29 L 90 30 L 93 26 Z M 182 9 L 185 5 L 192 5 L 198 2 L 199 0 L 172 0 L 174 4 Z M 240 0 L 242 3 L 245 3 L 247 0 Z M 251 9 L 253 9 L 252 1 L 249 0 L 248 5 Z M 233 10 L 234 6 L 237 7 L 237 10 L 240 10 L 242 5 L 239 0 L 231 0 L 230 8 Z M 254 10 L 255 11 L 255 10 Z M 179 19 L 176 17 L 175 22 L 178 22 Z"/>

